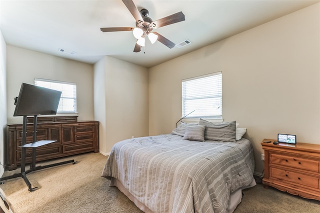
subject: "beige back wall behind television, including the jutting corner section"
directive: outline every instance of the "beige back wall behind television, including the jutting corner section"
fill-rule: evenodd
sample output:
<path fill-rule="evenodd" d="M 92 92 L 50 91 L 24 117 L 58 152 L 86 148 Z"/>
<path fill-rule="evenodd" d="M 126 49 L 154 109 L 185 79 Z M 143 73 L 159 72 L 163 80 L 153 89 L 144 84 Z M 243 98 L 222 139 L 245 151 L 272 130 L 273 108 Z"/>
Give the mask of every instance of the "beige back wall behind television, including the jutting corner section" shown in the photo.
<path fill-rule="evenodd" d="M 101 153 L 107 154 L 119 140 L 148 135 L 147 68 L 108 56 L 91 65 L 6 47 L 7 123 L 22 122 L 22 117 L 13 116 L 13 98 L 22 82 L 33 84 L 38 77 L 76 83 L 78 120 L 100 122 Z"/>

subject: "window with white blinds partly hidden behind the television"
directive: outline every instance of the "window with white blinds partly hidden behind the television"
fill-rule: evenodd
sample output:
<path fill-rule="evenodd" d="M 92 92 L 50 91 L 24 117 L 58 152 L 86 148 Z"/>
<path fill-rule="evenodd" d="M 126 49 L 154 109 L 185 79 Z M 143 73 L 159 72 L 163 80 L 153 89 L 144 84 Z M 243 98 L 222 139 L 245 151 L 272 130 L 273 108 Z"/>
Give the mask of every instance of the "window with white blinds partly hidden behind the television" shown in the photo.
<path fill-rule="evenodd" d="M 57 112 L 76 112 L 76 84 L 34 78 L 34 85 L 62 91 Z"/>

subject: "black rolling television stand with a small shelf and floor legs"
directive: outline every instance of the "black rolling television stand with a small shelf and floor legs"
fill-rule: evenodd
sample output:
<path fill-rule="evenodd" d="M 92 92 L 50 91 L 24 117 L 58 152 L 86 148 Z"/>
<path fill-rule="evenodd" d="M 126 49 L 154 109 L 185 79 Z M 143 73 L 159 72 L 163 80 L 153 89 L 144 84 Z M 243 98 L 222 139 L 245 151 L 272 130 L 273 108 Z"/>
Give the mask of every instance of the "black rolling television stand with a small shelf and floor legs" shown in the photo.
<path fill-rule="evenodd" d="M 13 175 L 6 176 L 6 177 L 0 177 L 0 184 L 4 183 L 3 180 L 12 179 L 12 178 L 20 176 L 20 177 L 22 177 L 24 179 L 24 182 L 28 186 L 28 191 L 29 192 L 33 192 L 37 187 L 33 187 L 32 188 L 30 181 L 26 177 L 27 173 L 29 173 L 31 171 L 40 170 L 40 169 L 43 169 L 43 168 L 56 166 L 56 165 L 62 165 L 62 164 L 65 164 L 65 163 L 70 163 L 70 162 L 72 162 L 72 164 L 77 163 L 76 161 L 74 161 L 74 159 L 72 159 L 72 160 L 66 160 L 66 161 L 52 163 L 52 164 L 48 164 L 48 165 L 35 166 L 35 151 L 36 151 L 36 147 L 39 147 L 41 145 L 46 145 L 46 144 L 49 144 L 51 142 L 55 142 L 56 141 L 56 140 L 39 140 L 39 141 L 36 141 L 36 122 L 37 122 L 37 115 L 34 115 L 33 142 L 32 143 L 26 143 L 25 142 L 26 141 L 26 115 L 23 115 L 22 145 L 19 146 L 22 149 L 22 153 L 21 153 L 21 172 L 15 173 Z M 30 165 L 30 169 L 28 169 L 28 170 L 25 170 L 25 149 L 26 148 L 32 148 L 32 164 Z"/>

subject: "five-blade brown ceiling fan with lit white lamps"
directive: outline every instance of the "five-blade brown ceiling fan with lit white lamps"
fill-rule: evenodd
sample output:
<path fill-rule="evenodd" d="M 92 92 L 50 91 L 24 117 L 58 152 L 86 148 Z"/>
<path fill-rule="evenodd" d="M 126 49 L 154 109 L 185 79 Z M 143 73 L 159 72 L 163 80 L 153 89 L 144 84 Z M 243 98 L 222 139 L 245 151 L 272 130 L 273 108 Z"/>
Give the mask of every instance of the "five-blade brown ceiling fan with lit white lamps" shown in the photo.
<path fill-rule="evenodd" d="M 175 46 L 175 43 L 173 43 L 169 39 L 165 38 L 157 32 L 151 31 L 153 28 L 159 28 L 162 26 L 185 20 L 184 14 L 181 11 L 152 21 L 152 19 L 148 17 L 149 12 L 147 9 L 141 9 L 139 11 L 132 0 L 122 0 L 122 2 L 125 4 L 125 6 L 128 8 L 132 16 L 134 17 L 136 21 L 136 27 L 101 27 L 100 30 L 102 32 L 133 31 L 134 37 L 137 38 L 133 52 L 141 51 L 141 46 L 144 46 L 145 36 L 149 38 L 151 43 L 154 43 L 156 40 L 158 40 L 169 48 Z"/>

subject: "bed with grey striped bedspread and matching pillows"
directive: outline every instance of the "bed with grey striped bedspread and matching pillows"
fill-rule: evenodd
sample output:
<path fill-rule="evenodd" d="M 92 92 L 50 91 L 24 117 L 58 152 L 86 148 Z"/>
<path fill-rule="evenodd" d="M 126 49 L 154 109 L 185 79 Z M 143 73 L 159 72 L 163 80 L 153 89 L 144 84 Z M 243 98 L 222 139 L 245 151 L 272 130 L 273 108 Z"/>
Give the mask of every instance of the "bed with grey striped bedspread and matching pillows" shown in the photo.
<path fill-rule="evenodd" d="M 119 141 L 102 176 L 144 212 L 232 212 L 241 189 L 255 185 L 252 144 L 235 131 L 235 121 L 200 119 Z"/>

